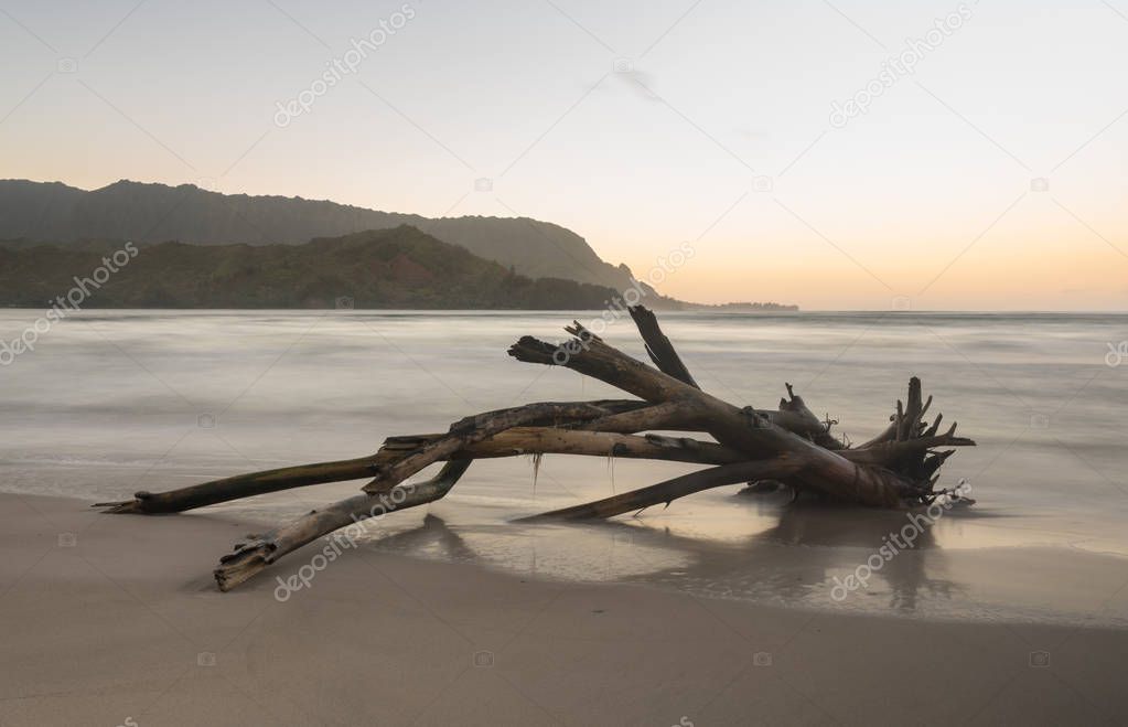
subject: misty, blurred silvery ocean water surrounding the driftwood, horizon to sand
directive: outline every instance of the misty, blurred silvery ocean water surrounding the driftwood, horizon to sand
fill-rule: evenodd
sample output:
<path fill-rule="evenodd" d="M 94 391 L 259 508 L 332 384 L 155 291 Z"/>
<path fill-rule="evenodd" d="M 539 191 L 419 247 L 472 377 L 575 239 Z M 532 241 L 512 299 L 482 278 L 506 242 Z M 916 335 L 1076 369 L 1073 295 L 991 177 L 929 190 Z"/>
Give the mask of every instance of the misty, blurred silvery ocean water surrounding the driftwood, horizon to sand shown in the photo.
<path fill-rule="evenodd" d="M 0 312 L 11 341 L 42 312 Z M 520 335 L 573 317 L 515 312 L 85 312 L 0 367 L 0 490 L 126 499 L 240 472 L 356 457 L 390 435 L 443 431 L 529 401 L 619 396 L 520 364 Z M 475 463 L 446 499 L 372 524 L 367 548 L 565 580 L 642 583 L 796 607 L 1128 624 L 1128 315 L 662 314 L 702 386 L 774 408 L 792 383 L 834 431 L 880 431 L 910 376 L 961 449 L 978 505 L 945 514 L 875 570 L 835 584 L 906 524 L 901 513 L 788 506 L 721 488 L 588 525 L 514 518 L 644 487 L 688 465 L 547 456 Z M 628 318 L 603 338 L 645 359 Z M 1125 345 L 1128 349 L 1128 345 Z M 200 510 L 282 523 L 361 482 Z M 217 552 L 226 544 L 217 543 Z M 201 553 L 201 571 L 212 567 Z M 280 562 L 287 576 L 303 561 Z M 1002 575 L 1002 576 L 1001 576 Z M 837 580 L 836 580 L 837 579 Z M 839 592 L 839 595 L 841 592 Z"/>

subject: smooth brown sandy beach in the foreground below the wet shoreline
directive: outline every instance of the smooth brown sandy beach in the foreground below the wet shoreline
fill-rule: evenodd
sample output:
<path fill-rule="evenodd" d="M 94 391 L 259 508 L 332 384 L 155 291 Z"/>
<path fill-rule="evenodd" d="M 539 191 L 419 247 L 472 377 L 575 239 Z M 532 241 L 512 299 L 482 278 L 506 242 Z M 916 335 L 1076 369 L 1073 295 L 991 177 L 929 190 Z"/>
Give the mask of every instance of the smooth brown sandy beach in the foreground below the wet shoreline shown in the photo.
<path fill-rule="evenodd" d="M 0 724 L 1128 719 L 1121 630 L 775 608 L 367 549 L 281 602 L 292 569 L 228 594 L 211 579 L 249 523 L 86 506 L 0 496 Z"/>

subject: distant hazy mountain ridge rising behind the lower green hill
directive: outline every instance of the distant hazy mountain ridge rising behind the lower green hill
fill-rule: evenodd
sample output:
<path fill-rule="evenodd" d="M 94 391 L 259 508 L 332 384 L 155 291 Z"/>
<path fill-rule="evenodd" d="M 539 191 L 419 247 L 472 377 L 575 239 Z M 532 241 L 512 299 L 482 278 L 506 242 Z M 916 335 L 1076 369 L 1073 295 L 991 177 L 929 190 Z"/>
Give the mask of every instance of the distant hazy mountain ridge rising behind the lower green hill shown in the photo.
<path fill-rule="evenodd" d="M 399 225 L 417 227 L 530 278 L 563 278 L 617 290 L 632 284 L 626 265 L 603 261 L 581 236 L 526 217 L 428 218 L 329 200 L 222 194 L 192 184 L 174 187 L 129 179 L 89 191 L 62 182 L 0 179 L 0 238 L 6 239 L 300 245 Z"/>

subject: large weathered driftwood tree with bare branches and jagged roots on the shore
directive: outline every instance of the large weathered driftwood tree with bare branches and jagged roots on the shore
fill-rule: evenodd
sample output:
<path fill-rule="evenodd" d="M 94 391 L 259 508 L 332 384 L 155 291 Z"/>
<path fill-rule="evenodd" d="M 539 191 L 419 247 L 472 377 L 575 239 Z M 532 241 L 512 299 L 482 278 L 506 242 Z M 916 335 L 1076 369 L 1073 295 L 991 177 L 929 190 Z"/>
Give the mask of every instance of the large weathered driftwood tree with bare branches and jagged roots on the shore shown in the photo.
<path fill-rule="evenodd" d="M 704 392 L 690 375 L 654 314 L 641 306 L 631 316 L 654 364 L 647 366 L 608 345 L 579 323 L 563 344 L 521 338 L 509 349 L 519 361 L 563 366 L 615 386 L 636 398 L 541 402 L 468 417 L 442 433 L 390 437 L 370 456 L 256 472 L 168 492 L 138 492 L 124 502 L 100 502 L 106 513 L 168 514 L 326 482 L 369 480 L 361 493 L 236 545 L 214 571 L 222 590 L 253 577 L 287 553 L 364 519 L 433 502 L 447 494 L 474 459 L 545 454 L 664 459 L 705 468 L 610 498 L 545 513 L 530 519 L 608 518 L 669 505 L 710 488 L 777 482 L 799 492 L 882 508 L 915 508 L 938 497 L 937 471 L 954 449 L 970 446 L 953 423 L 940 431 L 940 414 L 924 415 L 920 380 L 909 380 L 884 430 L 851 447 L 831 435 L 785 384 L 775 410 L 739 408 Z M 656 368 L 655 368 L 656 367 Z M 699 432 L 712 441 L 655 433 Z M 408 480 L 442 462 L 423 482 Z"/>

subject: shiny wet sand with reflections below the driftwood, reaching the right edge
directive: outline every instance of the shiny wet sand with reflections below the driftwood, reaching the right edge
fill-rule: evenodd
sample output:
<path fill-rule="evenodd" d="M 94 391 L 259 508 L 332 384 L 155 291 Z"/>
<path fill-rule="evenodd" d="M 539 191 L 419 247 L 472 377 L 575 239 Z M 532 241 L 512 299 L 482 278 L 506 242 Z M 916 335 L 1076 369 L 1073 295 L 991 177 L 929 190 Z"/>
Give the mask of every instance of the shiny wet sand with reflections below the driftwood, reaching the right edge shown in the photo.
<path fill-rule="evenodd" d="M 905 537 L 911 514 L 787 500 L 785 493 L 722 494 L 697 501 L 706 518 L 684 507 L 544 524 L 491 520 L 481 510 L 468 514 L 465 502 L 448 502 L 446 510 L 435 508 L 446 518 L 405 513 L 381 523 L 370 545 L 521 576 L 633 583 L 790 607 L 1128 624 L 1128 592 L 1122 598 L 1113 593 L 1123 581 L 1122 558 L 1031 544 L 1010 524 L 1021 517 L 982 508 L 945 513 L 919 529 L 911 548 L 883 559 L 865 585 L 836 599 L 836 584 L 879 554 L 891 534 Z M 992 538 L 986 545 L 984 533 Z"/>

